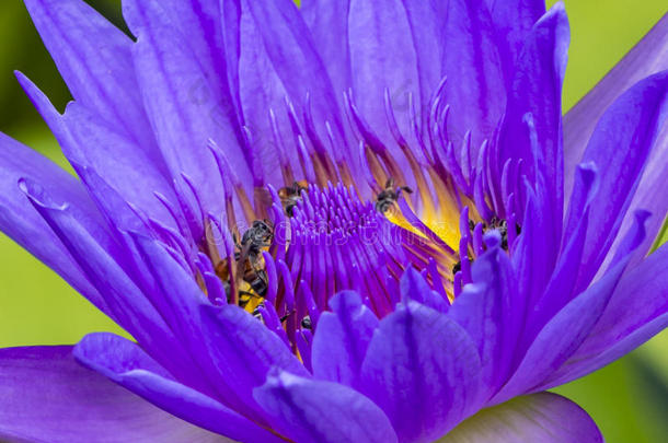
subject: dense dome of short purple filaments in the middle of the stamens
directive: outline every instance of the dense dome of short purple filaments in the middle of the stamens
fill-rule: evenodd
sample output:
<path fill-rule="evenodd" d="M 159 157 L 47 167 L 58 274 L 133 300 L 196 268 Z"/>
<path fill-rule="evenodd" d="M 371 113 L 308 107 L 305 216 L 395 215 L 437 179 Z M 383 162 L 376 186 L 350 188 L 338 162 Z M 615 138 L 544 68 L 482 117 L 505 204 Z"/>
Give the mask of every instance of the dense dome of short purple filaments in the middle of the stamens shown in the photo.
<path fill-rule="evenodd" d="M 404 246 L 413 235 L 389 222 L 373 202 L 362 202 L 342 185 L 312 186 L 289 219 L 286 263 L 298 287 L 315 294 L 322 311 L 336 292 L 355 289 L 380 316 L 392 311 L 396 279 L 410 261 Z"/>

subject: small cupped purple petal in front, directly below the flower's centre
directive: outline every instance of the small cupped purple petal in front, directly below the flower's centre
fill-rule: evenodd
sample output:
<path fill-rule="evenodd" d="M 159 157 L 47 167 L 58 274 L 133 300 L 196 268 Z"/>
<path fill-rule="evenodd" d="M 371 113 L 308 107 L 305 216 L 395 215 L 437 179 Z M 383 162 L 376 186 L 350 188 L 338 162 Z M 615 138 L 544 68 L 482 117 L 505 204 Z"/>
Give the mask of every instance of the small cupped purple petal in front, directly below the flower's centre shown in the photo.
<path fill-rule="evenodd" d="M 353 291 L 337 293 L 330 300 L 330 306 L 333 313 L 320 316 L 313 338 L 313 375 L 353 386 L 378 318 Z"/>

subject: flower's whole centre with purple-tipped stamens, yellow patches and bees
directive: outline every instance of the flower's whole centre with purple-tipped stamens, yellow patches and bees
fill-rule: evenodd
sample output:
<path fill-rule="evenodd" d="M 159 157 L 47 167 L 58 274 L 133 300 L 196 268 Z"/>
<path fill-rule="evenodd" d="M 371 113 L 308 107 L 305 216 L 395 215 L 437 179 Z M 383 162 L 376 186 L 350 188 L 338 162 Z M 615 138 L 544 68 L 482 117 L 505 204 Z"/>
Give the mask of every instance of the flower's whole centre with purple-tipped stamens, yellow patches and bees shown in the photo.
<path fill-rule="evenodd" d="M 357 291 L 382 318 L 394 310 L 400 278 L 412 267 L 449 303 L 471 282 L 471 264 L 485 248 L 486 231 L 498 230 L 502 246 L 510 249 L 523 208 L 510 184 L 521 182 L 521 165 L 508 160 L 503 172 L 493 170 L 494 144 L 485 140 L 474 149 L 470 133 L 456 148 L 447 135 L 449 108 L 439 101 L 440 92 L 426 133 L 415 127 L 412 145 L 389 101 L 390 144 L 369 129 L 347 96 L 359 137 L 357 161 L 342 155 L 336 147 L 347 142 L 337 140 L 329 124 L 329 143 L 319 138 L 308 110 L 301 119 L 288 106 L 293 131 L 288 141 L 270 113 L 284 182 L 278 190 L 268 184 L 276 177 L 265 175 L 250 133 L 252 186 L 211 144 L 223 184 L 224 220 L 203 215 L 205 235 L 196 241 L 198 254 L 191 265 L 211 302 L 253 313 L 296 353 L 307 355 L 320 313 L 329 310 L 335 293 Z M 286 148 L 289 143 L 292 149 Z M 495 187 L 498 182 L 507 186 Z"/>

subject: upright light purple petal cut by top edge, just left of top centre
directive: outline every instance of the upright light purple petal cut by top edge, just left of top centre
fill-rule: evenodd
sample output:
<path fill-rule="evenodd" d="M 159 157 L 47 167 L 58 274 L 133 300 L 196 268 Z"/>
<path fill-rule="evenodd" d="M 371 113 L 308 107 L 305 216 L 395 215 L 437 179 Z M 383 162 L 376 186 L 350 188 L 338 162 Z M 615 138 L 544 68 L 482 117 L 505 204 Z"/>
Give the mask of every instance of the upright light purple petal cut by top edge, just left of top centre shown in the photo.
<path fill-rule="evenodd" d="M 337 106 L 341 100 L 334 94 L 311 33 L 292 1 L 228 0 L 223 10 L 230 16 L 226 23 L 237 32 L 226 43 L 233 57 L 229 66 L 235 68 L 231 73 L 237 82 L 233 88 L 238 90 L 243 124 L 253 137 L 256 160 L 261 160 L 253 165 L 253 172 L 274 185 L 283 184 L 279 166 L 284 162 L 296 172 L 302 171 L 296 155 L 297 133 L 303 137 L 307 148 L 327 152 L 322 142 L 326 140 L 327 123 L 335 139 L 343 142 Z M 287 130 L 274 130 L 269 112 L 274 113 L 277 127 Z M 287 152 L 281 153 L 284 141 Z M 343 147 L 349 159 L 355 159 L 355 150 Z M 342 152 L 333 154 L 336 159 Z"/>

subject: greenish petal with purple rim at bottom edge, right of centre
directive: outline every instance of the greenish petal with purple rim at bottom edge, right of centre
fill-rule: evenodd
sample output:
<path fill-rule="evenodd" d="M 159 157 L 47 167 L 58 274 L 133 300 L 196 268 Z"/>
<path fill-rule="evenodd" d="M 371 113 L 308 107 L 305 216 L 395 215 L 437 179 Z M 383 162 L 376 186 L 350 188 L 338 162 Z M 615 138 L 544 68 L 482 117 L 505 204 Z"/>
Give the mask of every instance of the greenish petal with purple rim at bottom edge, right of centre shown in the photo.
<path fill-rule="evenodd" d="M 518 397 L 483 409 L 438 443 L 602 443 L 583 408 L 556 394 Z"/>

